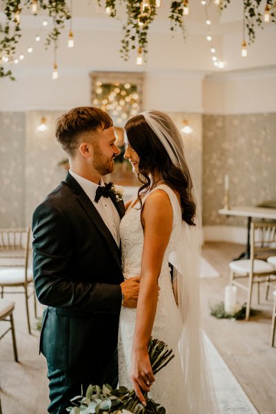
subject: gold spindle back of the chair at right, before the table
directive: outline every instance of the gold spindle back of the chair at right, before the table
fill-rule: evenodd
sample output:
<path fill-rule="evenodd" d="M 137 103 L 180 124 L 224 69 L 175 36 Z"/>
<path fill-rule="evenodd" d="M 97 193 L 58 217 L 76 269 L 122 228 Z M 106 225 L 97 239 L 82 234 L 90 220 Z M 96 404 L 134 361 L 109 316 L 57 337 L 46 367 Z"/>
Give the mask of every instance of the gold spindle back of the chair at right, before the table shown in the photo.
<path fill-rule="evenodd" d="M 276 253 L 276 222 L 252 222 L 250 228 L 250 259 L 266 260 Z"/>

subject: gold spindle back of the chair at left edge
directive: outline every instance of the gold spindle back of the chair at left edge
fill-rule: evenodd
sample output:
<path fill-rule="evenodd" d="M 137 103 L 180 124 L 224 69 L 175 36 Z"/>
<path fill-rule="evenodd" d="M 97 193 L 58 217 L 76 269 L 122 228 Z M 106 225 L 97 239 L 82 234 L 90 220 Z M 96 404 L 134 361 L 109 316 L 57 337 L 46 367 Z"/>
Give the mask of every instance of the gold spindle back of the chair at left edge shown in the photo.
<path fill-rule="evenodd" d="M 25 269 L 27 279 L 30 228 L 0 228 L 0 268 Z"/>

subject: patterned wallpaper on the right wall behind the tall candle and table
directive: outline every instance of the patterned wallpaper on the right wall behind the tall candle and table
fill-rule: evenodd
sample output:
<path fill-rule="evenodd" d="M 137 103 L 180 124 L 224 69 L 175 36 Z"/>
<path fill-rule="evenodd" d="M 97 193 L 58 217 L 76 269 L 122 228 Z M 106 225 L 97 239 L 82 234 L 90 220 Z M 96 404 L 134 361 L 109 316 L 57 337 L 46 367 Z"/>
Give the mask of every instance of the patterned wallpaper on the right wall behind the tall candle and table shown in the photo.
<path fill-rule="evenodd" d="M 244 218 L 217 214 L 224 175 L 230 206 L 276 200 L 276 114 L 204 115 L 203 131 L 203 222 L 244 226 Z"/>

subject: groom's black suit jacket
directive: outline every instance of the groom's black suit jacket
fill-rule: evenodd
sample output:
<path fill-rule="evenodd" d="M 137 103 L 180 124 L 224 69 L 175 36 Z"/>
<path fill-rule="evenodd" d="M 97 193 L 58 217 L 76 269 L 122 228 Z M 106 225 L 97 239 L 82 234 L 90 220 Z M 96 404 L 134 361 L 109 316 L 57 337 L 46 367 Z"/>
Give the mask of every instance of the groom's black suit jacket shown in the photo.
<path fill-rule="evenodd" d="M 124 204 L 112 199 L 122 217 Z M 32 230 L 34 286 L 48 306 L 42 353 L 51 366 L 99 384 L 117 348 L 119 248 L 69 173 L 34 211 Z"/>

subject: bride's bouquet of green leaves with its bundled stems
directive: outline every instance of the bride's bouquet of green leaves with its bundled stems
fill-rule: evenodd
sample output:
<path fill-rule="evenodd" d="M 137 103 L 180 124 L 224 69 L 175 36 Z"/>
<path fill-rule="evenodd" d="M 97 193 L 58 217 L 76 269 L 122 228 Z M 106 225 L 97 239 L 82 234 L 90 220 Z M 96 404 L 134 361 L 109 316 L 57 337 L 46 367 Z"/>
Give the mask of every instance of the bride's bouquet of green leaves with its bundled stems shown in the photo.
<path fill-rule="evenodd" d="M 168 348 L 159 339 L 150 339 L 148 354 L 152 366 L 153 375 L 158 373 L 175 356 L 172 349 Z M 67 408 L 70 414 L 165 414 L 166 410 L 157 402 L 145 395 L 146 407 L 139 401 L 134 389 L 128 390 L 124 386 L 112 389 L 106 384 L 103 387 L 90 385 L 86 396 L 78 395 L 71 402 L 77 406 Z"/>

